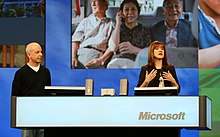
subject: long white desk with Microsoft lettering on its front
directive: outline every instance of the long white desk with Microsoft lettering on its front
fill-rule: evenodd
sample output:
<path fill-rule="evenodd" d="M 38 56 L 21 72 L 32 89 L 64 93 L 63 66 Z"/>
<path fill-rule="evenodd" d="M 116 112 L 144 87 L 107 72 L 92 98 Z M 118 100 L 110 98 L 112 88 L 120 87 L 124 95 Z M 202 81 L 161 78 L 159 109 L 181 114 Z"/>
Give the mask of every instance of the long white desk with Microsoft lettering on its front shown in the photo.
<path fill-rule="evenodd" d="M 212 128 L 206 96 L 13 96 L 11 113 L 14 128 Z"/>

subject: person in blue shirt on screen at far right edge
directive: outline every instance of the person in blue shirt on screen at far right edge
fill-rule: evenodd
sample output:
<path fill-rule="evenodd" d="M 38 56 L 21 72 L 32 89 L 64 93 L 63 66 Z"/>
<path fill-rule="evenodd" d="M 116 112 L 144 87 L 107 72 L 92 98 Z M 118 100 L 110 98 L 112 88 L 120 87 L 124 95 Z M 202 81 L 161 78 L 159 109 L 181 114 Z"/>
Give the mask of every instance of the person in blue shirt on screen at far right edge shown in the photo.
<path fill-rule="evenodd" d="M 199 67 L 220 66 L 220 1 L 198 1 Z"/>

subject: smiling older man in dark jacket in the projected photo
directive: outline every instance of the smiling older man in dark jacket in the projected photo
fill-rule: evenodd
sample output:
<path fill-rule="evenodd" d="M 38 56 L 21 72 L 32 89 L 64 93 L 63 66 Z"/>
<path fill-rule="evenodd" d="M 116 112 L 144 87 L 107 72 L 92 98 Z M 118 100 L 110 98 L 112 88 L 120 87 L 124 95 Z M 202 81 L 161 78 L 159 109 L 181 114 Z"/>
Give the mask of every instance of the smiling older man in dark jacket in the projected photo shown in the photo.
<path fill-rule="evenodd" d="M 164 20 L 156 23 L 151 32 L 153 40 L 166 45 L 169 63 L 176 68 L 198 68 L 198 40 L 192 33 L 191 24 L 181 19 L 183 0 L 164 0 Z M 141 50 L 135 60 L 135 67 L 147 64 L 148 48 Z"/>

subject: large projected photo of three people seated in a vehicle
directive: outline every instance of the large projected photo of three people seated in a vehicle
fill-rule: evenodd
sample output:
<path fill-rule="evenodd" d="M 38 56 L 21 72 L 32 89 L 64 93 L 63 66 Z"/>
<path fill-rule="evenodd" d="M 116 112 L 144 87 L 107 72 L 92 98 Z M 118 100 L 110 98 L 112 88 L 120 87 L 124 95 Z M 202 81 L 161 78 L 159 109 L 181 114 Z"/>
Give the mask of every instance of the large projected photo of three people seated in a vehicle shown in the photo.
<path fill-rule="evenodd" d="M 125 3 L 119 12 L 122 2 L 72 0 L 72 69 L 140 68 L 148 63 L 148 47 L 155 40 L 166 44 L 168 63 L 176 68 L 198 67 L 198 42 L 191 32 L 193 13 L 186 8 L 193 2 L 180 0 L 163 7 L 163 0 L 137 0 Z M 173 29 L 164 23 L 170 6 L 178 10 L 178 27 Z M 104 12 L 97 17 L 99 7 Z M 132 17 L 126 8 L 135 9 Z M 116 15 L 120 28 L 115 28 Z"/>

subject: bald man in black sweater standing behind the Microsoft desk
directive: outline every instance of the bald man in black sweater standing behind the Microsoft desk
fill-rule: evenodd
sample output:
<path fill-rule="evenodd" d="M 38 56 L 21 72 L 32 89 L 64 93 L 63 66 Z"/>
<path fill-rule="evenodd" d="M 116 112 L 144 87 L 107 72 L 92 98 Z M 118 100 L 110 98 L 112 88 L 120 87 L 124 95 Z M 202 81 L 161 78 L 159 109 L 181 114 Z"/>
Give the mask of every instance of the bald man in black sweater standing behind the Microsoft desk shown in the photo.
<path fill-rule="evenodd" d="M 50 71 L 40 63 L 43 59 L 42 48 L 36 42 L 26 46 L 28 63 L 16 71 L 12 82 L 12 96 L 43 96 L 45 86 L 51 85 Z M 43 137 L 43 129 L 24 129 L 23 137 Z"/>

